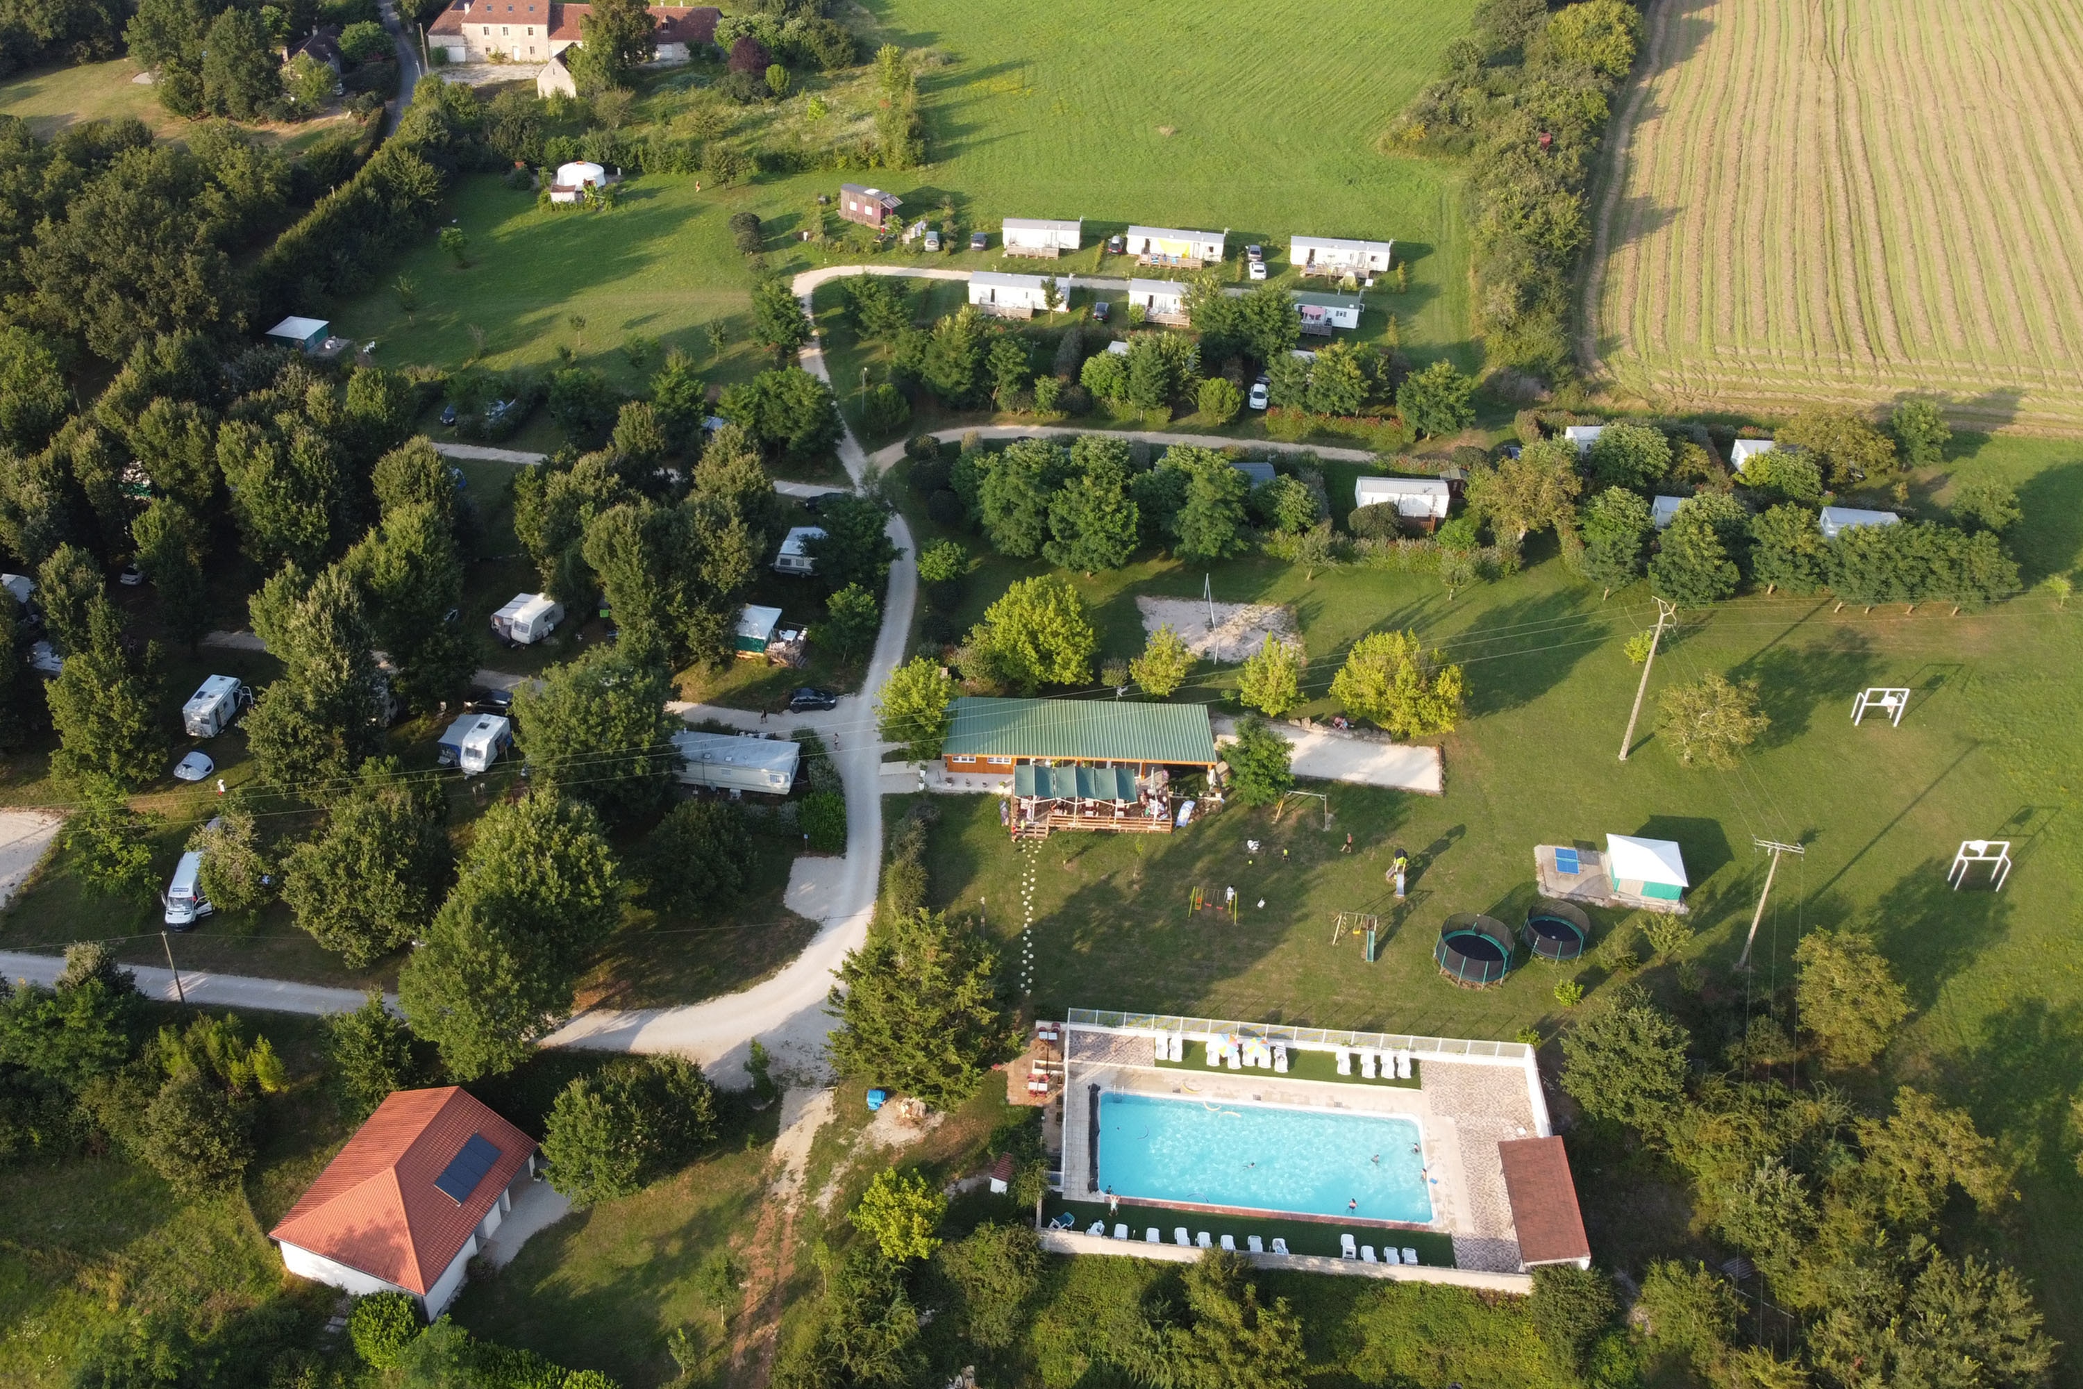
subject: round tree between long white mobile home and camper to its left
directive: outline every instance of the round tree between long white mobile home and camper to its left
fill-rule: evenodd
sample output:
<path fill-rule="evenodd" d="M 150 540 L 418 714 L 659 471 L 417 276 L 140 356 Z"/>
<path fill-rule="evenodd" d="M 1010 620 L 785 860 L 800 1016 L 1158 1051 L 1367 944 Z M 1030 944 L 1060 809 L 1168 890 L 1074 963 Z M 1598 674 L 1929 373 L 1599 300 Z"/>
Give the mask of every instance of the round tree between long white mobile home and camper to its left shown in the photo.
<path fill-rule="evenodd" d="M 529 781 L 592 804 L 614 823 L 664 804 L 681 721 L 664 710 L 667 677 L 619 648 L 594 648 L 515 693 L 515 746 Z"/>

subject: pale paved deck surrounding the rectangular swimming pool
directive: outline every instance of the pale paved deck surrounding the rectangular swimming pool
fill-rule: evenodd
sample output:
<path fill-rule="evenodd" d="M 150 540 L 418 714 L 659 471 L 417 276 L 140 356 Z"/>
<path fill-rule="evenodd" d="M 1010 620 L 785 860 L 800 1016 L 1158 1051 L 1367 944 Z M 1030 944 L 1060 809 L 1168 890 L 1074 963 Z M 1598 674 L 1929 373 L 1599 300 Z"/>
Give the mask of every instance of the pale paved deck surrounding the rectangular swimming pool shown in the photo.
<path fill-rule="evenodd" d="M 1354 1114 L 1394 1114 L 1419 1120 L 1425 1147 L 1425 1168 L 1437 1179 L 1433 1220 L 1412 1227 L 1383 1220 L 1348 1220 L 1339 1216 L 1306 1216 L 1333 1224 L 1364 1229 L 1429 1229 L 1452 1235 L 1454 1262 L 1460 1268 L 1519 1272 L 1519 1237 L 1512 1227 L 1512 1206 L 1504 1189 L 1504 1164 L 1498 1143 L 1529 1137 L 1539 1131 L 1527 1097 L 1525 1070 L 1516 1064 L 1469 1064 L 1427 1058 L 1423 1087 L 1337 1085 L 1275 1075 L 1271 1070 L 1179 1070 L 1158 1068 L 1156 1050 L 1148 1037 L 1073 1033 L 1071 1077 L 1064 1089 L 1062 1189 L 1071 1199 L 1098 1199 L 1100 1183 L 1091 1170 L 1091 1095 L 1125 1091 L 1141 1095 L 1179 1095 L 1231 1104 L 1283 1104 L 1302 1108 L 1346 1110 Z M 1121 1206 L 1208 1210 L 1171 1202 L 1133 1202 Z M 1244 1214 L 1244 1212 L 1239 1212 Z M 1304 1218 L 1296 1212 L 1283 1218 Z"/>

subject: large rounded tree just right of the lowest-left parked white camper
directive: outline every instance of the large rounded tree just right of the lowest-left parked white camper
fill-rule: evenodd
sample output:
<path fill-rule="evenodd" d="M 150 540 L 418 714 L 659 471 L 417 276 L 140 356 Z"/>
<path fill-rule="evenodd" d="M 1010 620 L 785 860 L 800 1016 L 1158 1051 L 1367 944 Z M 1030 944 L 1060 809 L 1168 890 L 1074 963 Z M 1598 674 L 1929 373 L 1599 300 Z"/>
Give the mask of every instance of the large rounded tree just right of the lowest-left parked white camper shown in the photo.
<path fill-rule="evenodd" d="M 325 829 L 290 852 L 281 895 L 298 929 L 367 968 L 425 927 L 452 870 L 440 783 L 373 758 L 331 804 Z"/>

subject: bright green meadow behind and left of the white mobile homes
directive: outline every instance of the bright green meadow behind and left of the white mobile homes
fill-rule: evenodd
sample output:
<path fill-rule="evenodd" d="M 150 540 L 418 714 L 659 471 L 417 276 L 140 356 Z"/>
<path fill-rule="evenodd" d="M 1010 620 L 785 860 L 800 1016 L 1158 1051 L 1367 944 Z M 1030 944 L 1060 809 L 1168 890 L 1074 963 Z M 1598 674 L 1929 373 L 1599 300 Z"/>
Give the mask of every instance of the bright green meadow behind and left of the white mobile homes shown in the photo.
<path fill-rule="evenodd" d="M 994 233 L 992 252 L 933 258 L 960 269 L 1033 269 L 996 254 L 1004 217 L 1083 217 L 1087 242 L 1129 223 L 1227 227 L 1235 275 L 1248 242 L 1275 248 L 1279 262 L 1298 231 L 1394 237 L 1410 260 L 1410 292 L 1377 296 L 1366 335 L 1385 333 L 1394 312 L 1404 348 L 1419 360 L 1452 354 L 1473 364 L 1456 175 L 1373 148 L 1387 115 L 1433 73 L 1469 8 L 1466 0 L 1444 10 L 1394 0 L 1337 44 L 1323 44 L 1321 27 L 1339 12 L 1321 2 L 1271 15 L 1235 6 L 1227 23 L 1185 10 L 1177 23 L 1150 10 L 1131 17 L 1100 0 L 1075 0 L 1069 12 L 992 12 L 985 23 L 950 0 L 877 4 L 877 40 L 931 46 L 946 62 L 921 75 L 933 162 L 879 171 L 875 181 L 919 214 L 952 200 L 964 235 L 971 227 Z M 1252 42 L 1237 42 L 1244 27 Z M 1298 73 L 1308 77 L 1298 81 Z M 669 125 L 700 98 L 689 85 L 704 75 L 648 79 L 637 117 Z M 812 96 L 831 102 L 831 119 L 852 129 L 854 106 L 871 100 L 858 77 L 806 77 L 800 87 L 771 117 L 773 129 L 804 129 Z M 1339 100 L 1321 100 L 1325 90 L 1337 90 Z M 817 194 L 835 194 L 854 177 L 762 175 L 696 192 L 696 175 L 642 175 L 614 212 L 583 214 L 539 212 L 533 194 L 473 175 L 446 208 L 471 237 L 467 269 L 429 239 L 379 285 L 319 310 L 346 335 L 377 339 L 377 358 L 390 367 L 460 367 L 471 358 L 494 369 L 548 367 L 569 348 L 633 392 L 648 373 L 629 367 L 621 344 L 642 333 L 689 352 L 710 383 L 739 381 L 764 358 L 748 342 L 750 271 L 727 219 L 756 212 L 769 267 L 781 273 L 875 258 L 796 239 Z M 829 217 L 837 227 L 835 212 Z M 881 258 L 910 260 L 910 252 Z M 1050 269 L 1091 275 L 1100 258 L 1091 246 Z M 1131 273 L 1125 258 L 1112 260 L 1119 264 L 1104 273 Z M 396 275 L 419 289 L 410 314 L 400 308 Z M 708 342 L 710 323 L 725 331 L 721 354 Z M 835 381 L 842 392 L 850 383 Z"/>

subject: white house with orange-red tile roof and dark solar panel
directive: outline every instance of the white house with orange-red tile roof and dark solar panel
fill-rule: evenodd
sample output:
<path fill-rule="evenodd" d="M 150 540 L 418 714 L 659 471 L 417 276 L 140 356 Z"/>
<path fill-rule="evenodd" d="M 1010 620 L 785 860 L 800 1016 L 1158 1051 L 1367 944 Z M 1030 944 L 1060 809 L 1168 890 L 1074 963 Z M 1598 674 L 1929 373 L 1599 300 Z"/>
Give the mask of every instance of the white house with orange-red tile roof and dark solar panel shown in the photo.
<path fill-rule="evenodd" d="M 433 1320 L 535 1172 L 535 1141 L 462 1089 L 377 1106 L 269 1239 L 290 1272 L 350 1293 L 402 1291 Z"/>

